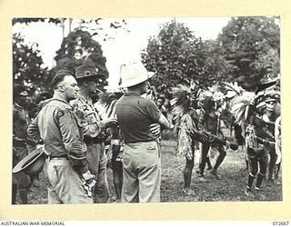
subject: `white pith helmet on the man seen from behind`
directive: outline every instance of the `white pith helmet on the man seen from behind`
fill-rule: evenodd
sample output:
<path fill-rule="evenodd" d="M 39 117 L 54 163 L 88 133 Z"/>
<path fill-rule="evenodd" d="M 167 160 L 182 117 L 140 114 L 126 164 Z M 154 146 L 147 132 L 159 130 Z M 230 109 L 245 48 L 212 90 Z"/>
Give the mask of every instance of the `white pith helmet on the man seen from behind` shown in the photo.
<path fill-rule="evenodd" d="M 139 61 L 123 64 L 120 68 L 120 87 L 131 87 L 145 82 L 155 73 L 147 72 L 146 67 Z"/>

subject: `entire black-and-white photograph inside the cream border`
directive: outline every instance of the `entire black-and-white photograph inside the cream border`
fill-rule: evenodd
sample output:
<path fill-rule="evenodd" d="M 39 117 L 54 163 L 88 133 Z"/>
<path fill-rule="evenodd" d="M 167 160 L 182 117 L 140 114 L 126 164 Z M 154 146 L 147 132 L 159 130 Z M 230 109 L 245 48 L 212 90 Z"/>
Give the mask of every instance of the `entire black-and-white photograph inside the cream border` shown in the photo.
<path fill-rule="evenodd" d="M 283 201 L 280 15 L 11 25 L 14 206 Z"/>

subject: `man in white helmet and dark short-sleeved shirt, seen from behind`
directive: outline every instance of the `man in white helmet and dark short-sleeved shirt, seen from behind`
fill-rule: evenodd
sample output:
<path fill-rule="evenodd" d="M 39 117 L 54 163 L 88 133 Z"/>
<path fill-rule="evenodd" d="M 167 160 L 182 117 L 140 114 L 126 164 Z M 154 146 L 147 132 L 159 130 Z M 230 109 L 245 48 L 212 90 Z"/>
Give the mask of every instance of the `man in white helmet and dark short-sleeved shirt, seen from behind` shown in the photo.
<path fill-rule="evenodd" d="M 141 97 L 154 74 L 149 74 L 141 62 L 122 65 L 120 74 L 121 86 L 127 88 L 116 103 L 117 121 L 125 140 L 121 202 L 160 202 L 160 144 L 158 135 L 150 132 L 150 125 L 174 125 L 154 101 Z"/>

